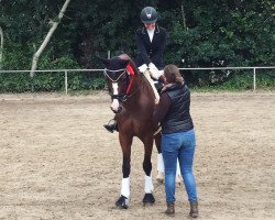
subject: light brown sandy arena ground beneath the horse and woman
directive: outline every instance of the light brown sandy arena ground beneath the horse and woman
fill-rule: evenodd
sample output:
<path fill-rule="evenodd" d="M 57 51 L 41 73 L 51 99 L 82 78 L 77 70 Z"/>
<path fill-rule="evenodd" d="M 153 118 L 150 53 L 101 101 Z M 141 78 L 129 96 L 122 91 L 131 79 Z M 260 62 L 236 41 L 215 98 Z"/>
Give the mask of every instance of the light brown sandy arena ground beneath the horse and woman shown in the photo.
<path fill-rule="evenodd" d="M 188 219 L 183 186 L 166 217 L 164 185 L 142 206 L 143 146 L 132 146 L 131 201 L 118 210 L 122 155 L 118 133 L 102 124 L 110 98 L 0 95 L 0 219 Z M 194 172 L 199 219 L 275 219 L 275 94 L 193 94 L 197 132 Z M 152 158 L 156 175 L 157 153 Z"/>

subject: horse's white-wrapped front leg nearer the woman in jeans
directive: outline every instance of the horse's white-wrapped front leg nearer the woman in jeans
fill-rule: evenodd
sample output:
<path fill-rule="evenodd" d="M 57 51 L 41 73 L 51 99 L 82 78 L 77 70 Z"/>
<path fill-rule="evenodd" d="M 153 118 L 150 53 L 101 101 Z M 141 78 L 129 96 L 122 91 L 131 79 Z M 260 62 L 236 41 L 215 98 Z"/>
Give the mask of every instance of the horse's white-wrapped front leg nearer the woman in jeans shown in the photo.
<path fill-rule="evenodd" d="M 145 173 L 145 186 L 144 186 L 144 198 L 143 198 L 143 204 L 144 206 L 146 204 L 153 205 L 155 202 L 155 198 L 153 196 L 153 182 L 152 182 L 152 162 L 151 162 L 151 156 L 152 156 L 152 150 L 153 150 L 153 140 L 152 138 L 148 139 L 147 141 L 144 141 L 144 161 L 143 161 L 143 170 Z"/>

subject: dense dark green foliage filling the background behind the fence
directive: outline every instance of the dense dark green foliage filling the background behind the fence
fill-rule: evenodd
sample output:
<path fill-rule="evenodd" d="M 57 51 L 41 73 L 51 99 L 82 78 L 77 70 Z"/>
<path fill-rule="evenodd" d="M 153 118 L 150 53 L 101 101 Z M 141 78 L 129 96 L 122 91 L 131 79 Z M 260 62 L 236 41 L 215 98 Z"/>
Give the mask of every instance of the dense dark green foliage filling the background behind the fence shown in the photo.
<path fill-rule="evenodd" d="M 3 69 L 31 68 L 32 56 L 63 3 L 64 0 L 0 0 Z M 166 64 L 174 63 L 179 67 L 275 65 L 275 8 L 272 0 L 78 0 L 70 2 L 42 54 L 38 69 L 101 68 L 97 56 L 107 57 L 108 51 L 112 56 L 124 51 L 134 58 L 134 32 L 142 25 L 139 16 L 145 6 L 157 9 L 160 25 L 169 33 Z M 105 88 L 101 76 L 70 75 L 70 90 Z M 210 75 L 210 72 L 193 72 L 188 77 L 194 87 L 220 86 L 224 81 L 213 85 Z M 249 77 L 242 74 L 234 77 L 229 77 L 223 86 L 251 88 Z M 1 75 L 0 79 L 1 91 L 64 88 L 63 73 L 56 76 L 41 74 L 33 81 L 28 74 Z M 270 77 L 258 76 L 258 82 L 274 87 Z"/>

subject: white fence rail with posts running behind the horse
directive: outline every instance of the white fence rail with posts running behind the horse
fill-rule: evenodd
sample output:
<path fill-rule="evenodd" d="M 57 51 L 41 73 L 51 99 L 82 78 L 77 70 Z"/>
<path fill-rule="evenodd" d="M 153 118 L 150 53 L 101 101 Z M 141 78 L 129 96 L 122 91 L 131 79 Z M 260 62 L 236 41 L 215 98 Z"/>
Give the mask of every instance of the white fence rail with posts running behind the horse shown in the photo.
<path fill-rule="evenodd" d="M 201 68 L 179 68 L 179 70 L 234 70 L 251 69 L 253 70 L 253 90 L 256 90 L 256 70 L 257 69 L 275 69 L 275 66 L 263 67 L 201 67 Z M 105 69 L 44 69 L 35 70 L 35 73 L 64 73 L 65 92 L 68 94 L 68 74 L 76 72 L 103 72 Z M 30 73 L 31 70 L 0 70 L 0 74 Z M 274 73 L 275 74 L 275 73 Z M 102 75 L 103 76 L 103 75 Z M 35 76 L 34 76 L 35 77 Z"/>

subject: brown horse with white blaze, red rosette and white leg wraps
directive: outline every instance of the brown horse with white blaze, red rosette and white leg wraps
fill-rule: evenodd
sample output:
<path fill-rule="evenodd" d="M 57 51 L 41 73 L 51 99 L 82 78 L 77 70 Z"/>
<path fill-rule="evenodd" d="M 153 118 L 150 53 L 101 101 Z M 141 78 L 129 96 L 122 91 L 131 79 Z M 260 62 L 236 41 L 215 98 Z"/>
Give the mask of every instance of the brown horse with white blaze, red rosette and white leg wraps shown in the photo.
<path fill-rule="evenodd" d="M 105 76 L 112 98 L 111 110 L 116 113 L 123 153 L 121 195 L 116 205 L 122 209 L 129 206 L 133 136 L 138 136 L 144 144 L 145 195 L 143 204 L 154 204 L 151 155 L 154 139 L 157 151 L 161 152 L 161 134 L 154 136 L 157 124 L 153 124 L 152 121 L 155 106 L 153 89 L 127 54 L 111 59 L 101 58 L 101 61 L 106 65 Z"/>

